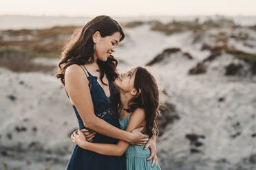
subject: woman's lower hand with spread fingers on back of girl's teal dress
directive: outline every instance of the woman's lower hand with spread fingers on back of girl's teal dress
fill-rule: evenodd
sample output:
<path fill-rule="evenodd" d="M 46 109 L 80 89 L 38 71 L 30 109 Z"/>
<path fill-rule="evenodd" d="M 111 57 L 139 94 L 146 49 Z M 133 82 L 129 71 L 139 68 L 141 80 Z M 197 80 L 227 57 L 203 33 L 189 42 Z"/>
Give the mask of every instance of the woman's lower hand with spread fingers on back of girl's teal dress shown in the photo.
<path fill-rule="evenodd" d="M 149 156 L 149 158 L 147 158 L 147 160 L 153 159 L 151 167 L 153 167 L 155 163 L 156 165 L 158 165 L 158 156 L 156 156 L 156 136 L 151 136 L 151 138 L 149 138 L 149 141 L 145 145 L 144 149 L 147 148 L 149 148 L 151 152 L 151 155 Z"/>

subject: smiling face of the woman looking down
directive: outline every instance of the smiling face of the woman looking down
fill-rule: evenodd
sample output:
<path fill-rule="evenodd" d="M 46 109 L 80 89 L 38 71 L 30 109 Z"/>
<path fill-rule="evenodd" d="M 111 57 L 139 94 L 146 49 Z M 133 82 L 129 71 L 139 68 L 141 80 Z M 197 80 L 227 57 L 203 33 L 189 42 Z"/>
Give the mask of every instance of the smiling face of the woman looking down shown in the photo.
<path fill-rule="evenodd" d="M 121 38 L 120 32 L 115 32 L 111 36 L 100 36 L 99 32 L 96 32 L 93 36 L 95 43 L 95 55 L 98 60 L 103 62 L 107 61 L 107 58 L 116 51 L 116 45 L 118 45 Z"/>

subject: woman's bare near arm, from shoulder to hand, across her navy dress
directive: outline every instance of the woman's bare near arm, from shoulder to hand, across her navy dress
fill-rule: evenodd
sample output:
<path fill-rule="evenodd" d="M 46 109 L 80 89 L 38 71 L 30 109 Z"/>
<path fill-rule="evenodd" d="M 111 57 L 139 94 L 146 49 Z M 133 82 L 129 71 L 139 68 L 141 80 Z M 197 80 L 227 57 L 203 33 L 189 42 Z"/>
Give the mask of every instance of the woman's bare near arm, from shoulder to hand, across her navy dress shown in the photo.
<path fill-rule="evenodd" d="M 85 73 L 80 66 L 72 64 L 67 67 L 65 71 L 65 88 L 86 127 L 105 136 L 118 138 L 122 141 L 147 142 L 147 135 L 120 130 L 103 119 L 96 117 L 88 84 L 87 77 L 85 77 Z"/>

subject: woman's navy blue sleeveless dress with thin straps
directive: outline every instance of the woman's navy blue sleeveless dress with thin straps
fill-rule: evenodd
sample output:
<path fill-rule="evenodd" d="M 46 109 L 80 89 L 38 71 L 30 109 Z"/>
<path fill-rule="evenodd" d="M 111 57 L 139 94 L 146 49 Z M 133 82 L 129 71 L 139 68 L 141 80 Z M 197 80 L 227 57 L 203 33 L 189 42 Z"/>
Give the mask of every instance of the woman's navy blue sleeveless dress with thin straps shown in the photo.
<path fill-rule="evenodd" d="M 91 92 L 92 102 L 94 104 L 94 112 L 96 116 L 100 119 L 107 121 L 107 123 L 110 123 L 111 125 L 120 128 L 118 122 L 116 90 L 113 84 L 111 83 L 111 81 L 109 81 L 109 78 L 107 78 L 109 81 L 110 90 L 110 97 L 108 98 L 105 95 L 103 88 L 97 82 L 98 77 L 93 76 L 91 73 L 87 71 L 86 68 L 83 69 L 83 71 L 85 72 L 85 75 L 87 76 L 87 79 L 89 81 L 89 89 Z M 76 110 L 76 106 L 72 106 L 78 119 L 79 129 L 84 129 L 85 126 L 83 125 L 83 121 L 79 116 L 78 111 Z M 96 133 L 92 142 L 116 144 L 118 143 L 118 139 L 110 138 L 108 136 Z M 125 155 L 105 156 L 102 154 L 97 154 L 94 151 L 83 149 L 76 145 L 70 158 L 70 161 L 68 162 L 67 170 L 125 170 L 125 163 Z"/>

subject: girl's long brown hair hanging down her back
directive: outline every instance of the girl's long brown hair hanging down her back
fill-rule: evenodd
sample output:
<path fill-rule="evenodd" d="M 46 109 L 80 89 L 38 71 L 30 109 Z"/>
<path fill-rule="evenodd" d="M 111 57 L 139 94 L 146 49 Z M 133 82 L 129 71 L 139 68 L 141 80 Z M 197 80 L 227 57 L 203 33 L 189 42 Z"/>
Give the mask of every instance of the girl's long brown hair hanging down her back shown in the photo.
<path fill-rule="evenodd" d="M 140 89 L 141 92 L 129 100 L 129 109 L 136 110 L 136 108 L 143 108 L 146 113 L 147 132 L 149 136 L 157 136 L 157 118 L 160 115 L 160 90 L 153 75 L 142 66 L 136 68 L 134 88 L 136 88 L 137 92 Z"/>

